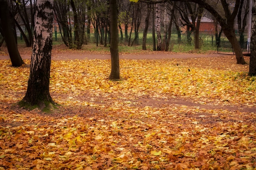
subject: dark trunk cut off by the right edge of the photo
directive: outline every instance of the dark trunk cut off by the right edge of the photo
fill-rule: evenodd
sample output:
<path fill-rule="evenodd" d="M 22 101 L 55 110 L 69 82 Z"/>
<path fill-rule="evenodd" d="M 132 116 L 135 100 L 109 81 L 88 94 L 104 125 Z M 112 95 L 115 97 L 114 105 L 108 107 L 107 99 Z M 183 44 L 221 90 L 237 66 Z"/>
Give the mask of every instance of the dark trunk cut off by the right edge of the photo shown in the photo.
<path fill-rule="evenodd" d="M 256 2 L 252 5 L 252 37 L 249 75 L 256 75 Z"/>

